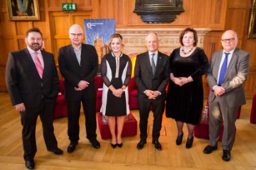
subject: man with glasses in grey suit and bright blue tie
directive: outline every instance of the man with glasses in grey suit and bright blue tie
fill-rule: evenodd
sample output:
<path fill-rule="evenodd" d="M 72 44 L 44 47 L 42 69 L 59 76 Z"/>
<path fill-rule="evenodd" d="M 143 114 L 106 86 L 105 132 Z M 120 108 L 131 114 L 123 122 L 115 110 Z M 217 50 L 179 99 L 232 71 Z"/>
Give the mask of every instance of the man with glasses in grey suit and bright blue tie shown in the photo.
<path fill-rule="evenodd" d="M 218 148 L 219 127 L 224 123 L 222 159 L 229 161 L 235 137 L 236 112 L 246 103 L 243 84 L 249 70 L 249 54 L 236 48 L 237 33 L 228 30 L 221 37 L 223 50 L 214 52 L 210 61 L 207 82 L 209 93 L 209 137 L 210 144 L 203 150 L 212 153 Z"/>

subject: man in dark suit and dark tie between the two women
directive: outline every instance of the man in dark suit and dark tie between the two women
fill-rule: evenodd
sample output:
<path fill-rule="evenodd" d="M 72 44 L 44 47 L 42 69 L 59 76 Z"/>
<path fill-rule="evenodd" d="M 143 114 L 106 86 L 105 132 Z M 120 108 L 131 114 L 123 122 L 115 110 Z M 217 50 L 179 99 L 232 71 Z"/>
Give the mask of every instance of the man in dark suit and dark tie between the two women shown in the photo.
<path fill-rule="evenodd" d="M 137 144 L 140 150 L 148 137 L 148 115 L 150 105 L 153 106 L 152 143 L 157 150 L 162 150 L 158 141 L 162 127 L 162 114 L 166 100 L 166 86 L 169 82 L 169 59 L 166 54 L 158 51 L 158 36 L 149 33 L 146 36 L 148 51 L 139 54 L 135 63 L 134 77 L 138 87 L 141 141 Z"/>

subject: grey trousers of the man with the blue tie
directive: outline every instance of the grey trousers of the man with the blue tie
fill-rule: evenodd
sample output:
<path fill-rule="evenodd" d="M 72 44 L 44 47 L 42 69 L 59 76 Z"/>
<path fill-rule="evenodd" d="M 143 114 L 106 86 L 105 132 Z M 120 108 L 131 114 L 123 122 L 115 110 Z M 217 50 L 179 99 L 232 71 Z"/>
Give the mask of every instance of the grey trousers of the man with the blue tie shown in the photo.
<path fill-rule="evenodd" d="M 235 139 L 235 120 L 239 107 L 228 107 L 223 104 L 221 98 L 216 97 L 209 103 L 209 138 L 210 145 L 215 146 L 218 143 L 221 119 L 223 119 L 224 131 L 222 137 L 223 150 L 232 150 Z"/>

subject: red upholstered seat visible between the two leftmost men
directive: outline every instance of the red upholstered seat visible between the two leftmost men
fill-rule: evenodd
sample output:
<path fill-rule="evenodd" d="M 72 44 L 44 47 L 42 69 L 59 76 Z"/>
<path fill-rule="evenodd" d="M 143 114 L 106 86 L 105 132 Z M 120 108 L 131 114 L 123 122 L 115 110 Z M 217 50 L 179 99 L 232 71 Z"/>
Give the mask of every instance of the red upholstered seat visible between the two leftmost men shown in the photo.
<path fill-rule="evenodd" d="M 62 118 L 67 116 L 67 104 L 65 102 L 65 95 L 64 95 L 64 81 L 60 80 L 59 83 L 60 83 L 58 88 L 59 95 L 56 98 L 53 118 Z"/>

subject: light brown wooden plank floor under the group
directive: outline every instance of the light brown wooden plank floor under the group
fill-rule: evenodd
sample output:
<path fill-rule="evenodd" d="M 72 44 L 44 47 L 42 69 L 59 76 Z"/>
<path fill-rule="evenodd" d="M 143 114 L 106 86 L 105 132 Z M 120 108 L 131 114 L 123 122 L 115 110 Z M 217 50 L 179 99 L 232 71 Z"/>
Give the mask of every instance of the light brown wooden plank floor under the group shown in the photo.
<path fill-rule="evenodd" d="M 54 121 L 58 146 L 64 155 L 54 155 L 46 150 L 42 136 L 42 124 L 37 121 L 36 169 L 256 169 L 256 125 L 250 123 L 252 100 L 243 105 L 241 118 L 236 121 L 237 133 L 230 162 L 221 159 L 221 143 L 212 154 L 203 153 L 208 140 L 194 138 L 191 149 L 185 148 L 187 129 L 184 126 L 183 143 L 176 146 L 176 125 L 172 119 L 163 118 L 160 143 L 162 151 L 151 144 L 153 116 L 149 115 L 148 140 L 145 148 L 137 150 L 138 135 L 123 138 L 123 148 L 113 149 L 110 140 L 103 140 L 97 129 L 100 149 L 92 148 L 86 139 L 85 117 L 80 116 L 80 141 L 73 153 L 67 153 L 67 118 Z M 139 120 L 139 112 L 132 111 Z M 139 125 L 139 124 L 138 124 Z M 0 169 L 26 169 L 23 160 L 21 140 L 21 120 L 19 112 L 10 104 L 8 93 L 0 93 Z"/>

